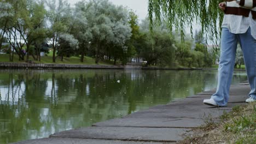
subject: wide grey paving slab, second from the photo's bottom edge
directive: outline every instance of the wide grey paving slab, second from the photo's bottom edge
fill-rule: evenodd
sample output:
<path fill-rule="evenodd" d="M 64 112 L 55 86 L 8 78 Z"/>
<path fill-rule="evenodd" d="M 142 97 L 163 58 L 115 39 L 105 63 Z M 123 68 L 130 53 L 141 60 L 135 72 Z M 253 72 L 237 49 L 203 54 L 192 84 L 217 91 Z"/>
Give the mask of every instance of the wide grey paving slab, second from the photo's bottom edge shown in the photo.
<path fill-rule="evenodd" d="M 184 134 L 191 134 L 190 131 L 191 129 L 180 128 L 88 127 L 62 131 L 50 137 L 175 142 L 183 140 Z"/>

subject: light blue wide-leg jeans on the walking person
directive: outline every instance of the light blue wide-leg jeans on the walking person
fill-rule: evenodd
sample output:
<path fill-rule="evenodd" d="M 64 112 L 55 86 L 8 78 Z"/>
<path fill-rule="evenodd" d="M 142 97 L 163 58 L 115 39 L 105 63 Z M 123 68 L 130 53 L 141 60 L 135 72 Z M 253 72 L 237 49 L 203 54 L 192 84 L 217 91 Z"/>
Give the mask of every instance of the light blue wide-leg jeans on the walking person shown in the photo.
<path fill-rule="evenodd" d="M 219 106 L 226 106 L 229 100 L 229 88 L 235 65 L 236 47 L 240 43 L 246 65 L 246 72 L 251 87 L 249 97 L 256 99 L 256 40 L 251 35 L 251 28 L 246 33 L 230 33 L 228 28 L 222 28 L 220 44 L 220 62 L 218 69 L 217 91 L 212 99 Z"/>

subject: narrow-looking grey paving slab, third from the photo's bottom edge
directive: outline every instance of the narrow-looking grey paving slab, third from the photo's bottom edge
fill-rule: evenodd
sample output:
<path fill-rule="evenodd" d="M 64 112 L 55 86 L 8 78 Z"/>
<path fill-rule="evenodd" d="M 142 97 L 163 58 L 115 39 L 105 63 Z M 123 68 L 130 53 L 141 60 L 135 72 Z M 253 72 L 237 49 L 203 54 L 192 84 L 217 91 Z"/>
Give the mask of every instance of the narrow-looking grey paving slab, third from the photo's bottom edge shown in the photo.
<path fill-rule="evenodd" d="M 196 128 L 204 124 L 197 118 L 116 118 L 92 124 L 94 127 Z"/>

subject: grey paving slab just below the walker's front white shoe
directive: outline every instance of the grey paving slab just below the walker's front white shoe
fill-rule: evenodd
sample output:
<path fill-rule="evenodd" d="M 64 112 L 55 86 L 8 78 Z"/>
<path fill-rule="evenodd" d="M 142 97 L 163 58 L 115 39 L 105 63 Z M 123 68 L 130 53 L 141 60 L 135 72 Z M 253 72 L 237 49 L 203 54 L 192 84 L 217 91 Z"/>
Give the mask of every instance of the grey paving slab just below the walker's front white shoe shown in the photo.
<path fill-rule="evenodd" d="M 225 107 L 212 107 L 202 104 L 201 98 L 186 99 L 167 105 L 150 107 L 148 110 L 138 111 L 123 118 L 198 118 L 206 119 L 208 116 L 217 118 L 224 112 L 229 112 L 235 105 L 246 105 L 246 103 L 228 103 Z"/>

